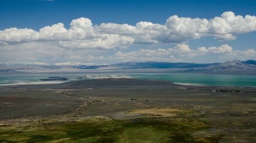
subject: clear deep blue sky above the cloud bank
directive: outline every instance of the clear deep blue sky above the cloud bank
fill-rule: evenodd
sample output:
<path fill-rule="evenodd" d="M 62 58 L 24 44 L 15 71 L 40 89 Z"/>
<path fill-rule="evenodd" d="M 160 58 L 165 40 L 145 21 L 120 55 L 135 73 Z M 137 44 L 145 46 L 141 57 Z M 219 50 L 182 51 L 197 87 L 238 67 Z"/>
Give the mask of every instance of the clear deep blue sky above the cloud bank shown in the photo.
<path fill-rule="evenodd" d="M 77 1 L 77 0 L 1 0 L 0 30 L 9 27 L 35 30 L 62 22 L 67 27 L 72 19 L 90 18 L 94 24 L 102 22 L 136 24 L 151 21 L 164 24 L 172 16 L 213 18 L 225 11 L 237 15 L 256 15 L 256 1 Z"/>

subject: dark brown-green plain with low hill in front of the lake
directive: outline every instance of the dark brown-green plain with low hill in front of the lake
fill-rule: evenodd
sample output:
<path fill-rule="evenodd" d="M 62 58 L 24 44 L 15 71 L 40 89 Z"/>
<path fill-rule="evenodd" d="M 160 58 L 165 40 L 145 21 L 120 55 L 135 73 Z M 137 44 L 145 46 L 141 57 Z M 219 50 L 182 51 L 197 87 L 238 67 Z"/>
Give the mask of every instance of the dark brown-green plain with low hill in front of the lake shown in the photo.
<path fill-rule="evenodd" d="M 0 142 L 256 142 L 255 134 L 256 88 L 127 78 L 0 87 Z"/>

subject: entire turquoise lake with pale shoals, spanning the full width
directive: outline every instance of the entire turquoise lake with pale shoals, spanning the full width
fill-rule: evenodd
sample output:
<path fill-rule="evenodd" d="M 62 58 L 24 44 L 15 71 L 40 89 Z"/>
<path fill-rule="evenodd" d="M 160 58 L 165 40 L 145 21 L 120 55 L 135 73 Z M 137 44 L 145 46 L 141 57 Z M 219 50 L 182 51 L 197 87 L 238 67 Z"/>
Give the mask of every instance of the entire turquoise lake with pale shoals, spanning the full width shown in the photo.
<path fill-rule="evenodd" d="M 168 80 L 187 85 L 214 85 L 214 86 L 238 86 L 256 87 L 256 75 L 207 75 L 207 74 L 85 74 L 85 73 L 62 73 L 62 74 L 18 74 L 0 75 L 0 85 L 14 84 L 48 84 L 65 81 L 40 81 L 39 79 L 51 76 L 66 77 L 68 80 L 84 80 L 94 78 L 137 78 Z"/>

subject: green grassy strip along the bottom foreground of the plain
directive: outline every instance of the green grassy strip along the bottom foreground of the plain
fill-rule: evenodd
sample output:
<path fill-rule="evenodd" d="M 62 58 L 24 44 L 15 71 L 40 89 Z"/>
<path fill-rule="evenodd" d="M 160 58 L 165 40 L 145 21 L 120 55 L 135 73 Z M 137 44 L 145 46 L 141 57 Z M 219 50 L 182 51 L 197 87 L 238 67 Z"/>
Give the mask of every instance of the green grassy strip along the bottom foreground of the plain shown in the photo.
<path fill-rule="evenodd" d="M 191 135 L 208 128 L 196 119 L 151 117 L 116 121 L 91 118 L 72 123 L 1 127 L 0 142 L 218 142 L 219 136 Z"/>

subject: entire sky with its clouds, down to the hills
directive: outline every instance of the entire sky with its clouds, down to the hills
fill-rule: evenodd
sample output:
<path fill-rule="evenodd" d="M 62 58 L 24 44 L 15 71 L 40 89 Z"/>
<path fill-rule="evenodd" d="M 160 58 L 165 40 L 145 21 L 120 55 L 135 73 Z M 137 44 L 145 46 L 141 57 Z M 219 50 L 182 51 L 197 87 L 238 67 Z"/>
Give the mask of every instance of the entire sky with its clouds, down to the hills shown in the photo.
<path fill-rule="evenodd" d="M 256 1 L 1 0 L 0 64 L 256 60 Z"/>

